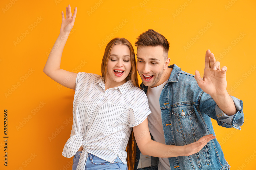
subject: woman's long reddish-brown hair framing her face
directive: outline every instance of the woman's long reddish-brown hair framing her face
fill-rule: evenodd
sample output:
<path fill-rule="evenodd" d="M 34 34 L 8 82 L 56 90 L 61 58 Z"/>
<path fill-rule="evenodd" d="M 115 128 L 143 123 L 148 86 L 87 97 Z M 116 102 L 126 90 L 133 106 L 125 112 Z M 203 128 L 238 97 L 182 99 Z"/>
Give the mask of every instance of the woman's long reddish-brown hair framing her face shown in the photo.
<path fill-rule="evenodd" d="M 110 42 L 107 44 L 107 46 L 105 48 L 105 52 L 104 52 L 102 62 L 101 62 L 101 74 L 102 74 L 102 78 L 103 78 L 104 82 L 105 82 L 105 78 L 107 75 L 107 66 L 108 66 L 109 56 L 110 56 L 112 47 L 117 44 L 123 44 L 129 48 L 130 54 L 131 54 L 132 68 L 131 68 L 129 75 L 126 77 L 126 80 L 127 81 L 131 80 L 132 84 L 134 86 L 139 87 L 138 75 L 137 75 L 137 71 L 136 71 L 136 59 L 135 59 L 134 49 L 132 47 L 132 44 L 125 38 L 114 38 L 114 39 L 110 40 Z"/>

